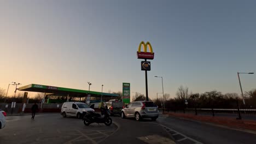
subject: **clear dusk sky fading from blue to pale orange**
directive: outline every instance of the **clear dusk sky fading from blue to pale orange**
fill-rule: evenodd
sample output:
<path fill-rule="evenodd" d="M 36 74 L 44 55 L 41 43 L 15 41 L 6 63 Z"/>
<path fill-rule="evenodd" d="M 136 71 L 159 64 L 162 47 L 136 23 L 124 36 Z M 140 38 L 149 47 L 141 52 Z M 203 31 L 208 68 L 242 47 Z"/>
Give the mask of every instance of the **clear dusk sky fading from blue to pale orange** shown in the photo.
<path fill-rule="evenodd" d="M 136 52 L 152 44 L 149 98 L 177 88 L 241 94 L 239 72 L 256 72 L 255 1 L 0 0 L 0 88 L 10 82 L 91 91 L 145 90 Z M 256 74 L 241 74 L 243 91 Z M 10 86 L 9 94 L 14 93 Z M 9 95 L 8 94 L 8 95 Z M 28 94 L 32 95 L 32 94 Z"/>

